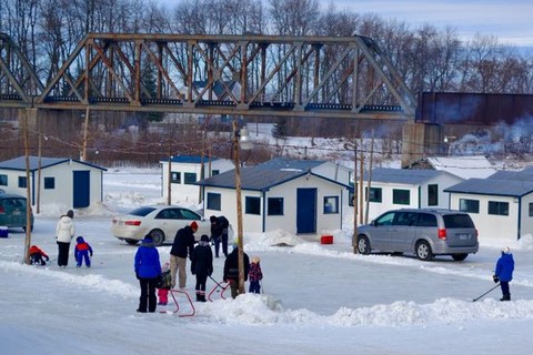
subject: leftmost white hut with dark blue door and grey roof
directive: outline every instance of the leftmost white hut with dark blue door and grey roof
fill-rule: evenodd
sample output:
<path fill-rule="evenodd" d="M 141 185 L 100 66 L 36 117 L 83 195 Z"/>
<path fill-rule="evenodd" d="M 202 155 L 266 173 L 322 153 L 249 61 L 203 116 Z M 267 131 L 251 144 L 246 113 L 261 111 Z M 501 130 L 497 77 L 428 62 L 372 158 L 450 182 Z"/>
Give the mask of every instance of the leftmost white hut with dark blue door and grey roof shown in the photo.
<path fill-rule="evenodd" d="M 68 209 L 84 209 L 103 201 L 103 172 L 107 169 L 68 158 L 40 159 L 40 205 L 60 204 Z M 26 174 L 26 156 L 0 162 L 0 189 L 27 194 L 36 205 L 39 180 L 39 158 L 29 156 L 30 180 Z"/>

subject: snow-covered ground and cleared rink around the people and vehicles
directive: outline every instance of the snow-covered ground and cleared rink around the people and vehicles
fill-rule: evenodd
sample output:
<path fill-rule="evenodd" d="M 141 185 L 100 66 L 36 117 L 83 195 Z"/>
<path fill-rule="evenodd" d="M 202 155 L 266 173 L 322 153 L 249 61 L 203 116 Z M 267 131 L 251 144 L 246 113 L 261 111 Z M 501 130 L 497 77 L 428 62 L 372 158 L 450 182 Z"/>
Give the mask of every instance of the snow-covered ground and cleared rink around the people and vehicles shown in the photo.
<path fill-rule="evenodd" d="M 533 242 L 510 245 L 513 301 L 499 302 L 496 288 L 474 303 L 494 286 L 497 241 L 482 241 L 459 263 L 354 255 L 351 221 L 332 245 L 281 231 L 245 235 L 245 252 L 262 258 L 262 295 L 221 300 L 214 292 L 214 302 L 194 303 L 192 317 L 139 314 L 137 247 L 109 227 L 113 214 L 163 202 L 159 171 L 110 170 L 104 184 L 104 203 L 74 219 L 94 250 L 93 267 L 76 268 L 72 253 L 69 267 L 57 266 L 53 231 L 64 213 L 57 206 L 41 209 L 32 233 L 48 266 L 21 263 L 22 231 L 0 239 L 0 354 L 531 354 Z M 293 246 L 273 246 L 280 242 Z M 163 262 L 169 251 L 159 247 Z M 222 265 L 217 258 L 218 281 Z M 189 292 L 193 285 L 189 274 Z M 192 311 L 184 301 L 182 315 Z"/>

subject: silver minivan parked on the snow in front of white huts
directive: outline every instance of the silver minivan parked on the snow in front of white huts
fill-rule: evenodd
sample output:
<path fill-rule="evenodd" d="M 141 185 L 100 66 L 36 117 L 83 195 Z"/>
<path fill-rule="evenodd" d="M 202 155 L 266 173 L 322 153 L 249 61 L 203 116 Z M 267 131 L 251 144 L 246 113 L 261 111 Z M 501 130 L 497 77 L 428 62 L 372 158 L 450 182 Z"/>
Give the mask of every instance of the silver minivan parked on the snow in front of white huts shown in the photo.
<path fill-rule="evenodd" d="M 372 223 L 358 227 L 355 247 L 371 252 L 414 253 L 423 261 L 451 255 L 463 261 L 480 244 L 474 222 L 467 213 L 453 210 L 402 209 L 383 213 Z"/>

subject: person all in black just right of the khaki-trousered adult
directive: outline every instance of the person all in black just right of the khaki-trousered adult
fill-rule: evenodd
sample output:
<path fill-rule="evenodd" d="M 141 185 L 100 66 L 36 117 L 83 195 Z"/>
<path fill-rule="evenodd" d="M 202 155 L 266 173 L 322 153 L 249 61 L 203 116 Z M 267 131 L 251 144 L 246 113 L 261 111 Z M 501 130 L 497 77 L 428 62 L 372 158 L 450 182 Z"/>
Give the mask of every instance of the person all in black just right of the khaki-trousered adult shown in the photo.
<path fill-rule="evenodd" d="M 197 301 L 205 302 L 205 283 L 208 276 L 213 273 L 213 252 L 209 245 L 209 236 L 203 234 L 200 237 L 191 257 L 191 273 L 197 275 Z"/>

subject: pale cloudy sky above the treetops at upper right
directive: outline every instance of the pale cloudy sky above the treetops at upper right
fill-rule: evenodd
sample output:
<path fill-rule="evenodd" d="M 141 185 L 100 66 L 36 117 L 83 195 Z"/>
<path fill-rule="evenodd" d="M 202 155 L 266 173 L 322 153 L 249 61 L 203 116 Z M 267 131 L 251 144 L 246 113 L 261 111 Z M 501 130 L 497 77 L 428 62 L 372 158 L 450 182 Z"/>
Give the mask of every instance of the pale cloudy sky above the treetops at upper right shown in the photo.
<path fill-rule="evenodd" d="M 174 4 L 180 0 L 159 0 Z M 268 0 L 263 0 L 265 3 Z M 502 44 L 533 47 L 533 1 L 531 0 L 319 0 L 338 10 L 373 12 L 384 19 L 403 20 L 416 29 L 431 23 L 450 26 L 462 40 L 475 33 L 496 36 Z"/>

